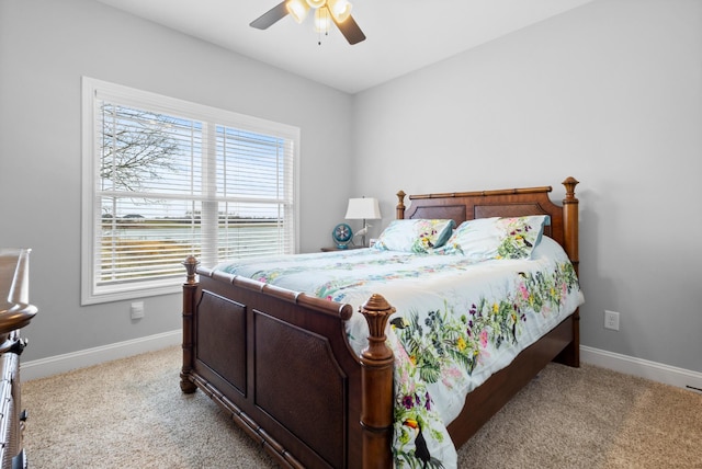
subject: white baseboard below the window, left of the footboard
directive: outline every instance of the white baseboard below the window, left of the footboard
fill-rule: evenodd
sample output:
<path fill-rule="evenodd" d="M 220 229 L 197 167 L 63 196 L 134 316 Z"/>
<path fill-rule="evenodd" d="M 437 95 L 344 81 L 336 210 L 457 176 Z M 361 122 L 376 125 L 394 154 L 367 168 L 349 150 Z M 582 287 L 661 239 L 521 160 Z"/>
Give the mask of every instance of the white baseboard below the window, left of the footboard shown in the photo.
<path fill-rule="evenodd" d="M 140 353 L 166 348 L 180 344 L 182 339 L 183 332 L 177 330 L 94 348 L 86 348 L 64 355 L 22 362 L 22 380 L 29 381 L 31 379 L 44 378 L 58 375 L 59 373 L 70 371 L 71 369 L 84 368 L 113 359 L 126 358 Z"/>

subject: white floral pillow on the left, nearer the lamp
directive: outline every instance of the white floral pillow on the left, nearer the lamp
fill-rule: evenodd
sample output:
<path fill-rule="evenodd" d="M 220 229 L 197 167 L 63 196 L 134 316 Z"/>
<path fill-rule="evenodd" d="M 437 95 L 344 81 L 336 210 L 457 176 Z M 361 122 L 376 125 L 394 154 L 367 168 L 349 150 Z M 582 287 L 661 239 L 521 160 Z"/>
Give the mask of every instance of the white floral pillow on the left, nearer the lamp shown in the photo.
<path fill-rule="evenodd" d="M 453 220 L 393 220 L 383 230 L 373 249 L 431 252 L 446 242 L 455 226 Z"/>

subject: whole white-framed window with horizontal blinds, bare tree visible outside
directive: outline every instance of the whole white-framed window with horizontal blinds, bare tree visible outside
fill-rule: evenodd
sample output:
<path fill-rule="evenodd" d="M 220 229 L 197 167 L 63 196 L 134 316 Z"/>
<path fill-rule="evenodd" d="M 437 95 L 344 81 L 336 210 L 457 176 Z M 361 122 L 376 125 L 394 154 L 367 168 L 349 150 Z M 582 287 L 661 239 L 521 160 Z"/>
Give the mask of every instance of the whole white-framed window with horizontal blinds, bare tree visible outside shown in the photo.
<path fill-rule="evenodd" d="M 83 78 L 82 304 L 297 251 L 299 129 Z"/>

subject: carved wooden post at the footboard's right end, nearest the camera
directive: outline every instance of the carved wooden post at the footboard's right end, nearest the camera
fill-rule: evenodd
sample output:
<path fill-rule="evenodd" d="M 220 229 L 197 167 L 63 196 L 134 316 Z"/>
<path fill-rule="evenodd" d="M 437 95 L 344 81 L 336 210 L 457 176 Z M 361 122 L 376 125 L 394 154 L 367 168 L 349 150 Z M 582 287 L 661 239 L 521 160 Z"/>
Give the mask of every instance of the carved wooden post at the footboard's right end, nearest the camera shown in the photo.
<path fill-rule="evenodd" d="M 363 468 L 393 467 L 393 351 L 385 344 L 385 327 L 395 312 L 381 295 L 360 309 L 369 323 L 369 346 L 361 354 L 361 427 Z"/>

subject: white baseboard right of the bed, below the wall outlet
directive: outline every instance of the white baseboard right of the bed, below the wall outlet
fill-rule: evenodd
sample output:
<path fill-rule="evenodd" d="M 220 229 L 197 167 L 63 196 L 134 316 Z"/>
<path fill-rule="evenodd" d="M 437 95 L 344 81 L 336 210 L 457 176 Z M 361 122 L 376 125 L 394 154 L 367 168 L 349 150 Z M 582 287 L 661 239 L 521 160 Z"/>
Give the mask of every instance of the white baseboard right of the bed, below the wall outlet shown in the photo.
<path fill-rule="evenodd" d="M 638 376 L 639 378 L 650 379 L 652 381 L 663 382 L 664 385 L 702 392 L 702 373 L 585 345 L 580 346 L 580 359 L 584 363 L 626 375 Z"/>

